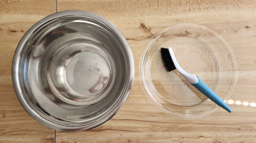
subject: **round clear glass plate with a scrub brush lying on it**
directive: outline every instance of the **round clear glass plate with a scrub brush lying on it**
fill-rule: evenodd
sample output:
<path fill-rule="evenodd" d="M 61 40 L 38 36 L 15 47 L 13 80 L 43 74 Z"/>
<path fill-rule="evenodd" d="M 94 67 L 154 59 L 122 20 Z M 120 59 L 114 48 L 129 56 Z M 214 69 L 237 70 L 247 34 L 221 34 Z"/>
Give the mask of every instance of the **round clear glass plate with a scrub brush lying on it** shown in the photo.
<path fill-rule="evenodd" d="M 141 86 L 154 105 L 171 116 L 183 119 L 202 118 L 220 108 L 177 70 L 167 71 L 161 47 L 172 47 L 181 68 L 198 76 L 227 102 L 237 81 L 233 50 L 212 29 L 200 24 L 182 23 L 169 26 L 153 36 L 141 55 Z"/>

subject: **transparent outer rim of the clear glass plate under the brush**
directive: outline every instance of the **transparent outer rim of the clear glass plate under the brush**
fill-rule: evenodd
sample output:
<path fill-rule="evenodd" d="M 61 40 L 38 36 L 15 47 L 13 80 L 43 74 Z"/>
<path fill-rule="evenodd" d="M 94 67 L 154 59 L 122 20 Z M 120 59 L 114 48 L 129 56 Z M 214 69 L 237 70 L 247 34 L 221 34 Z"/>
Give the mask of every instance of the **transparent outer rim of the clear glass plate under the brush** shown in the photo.
<path fill-rule="evenodd" d="M 205 115 L 198 114 L 198 115 L 196 115 L 196 116 L 187 116 L 187 117 L 185 117 L 185 118 L 184 118 L 184 117 L 181 117 L 181 116 L 179 116 L 179 115 L 176 115 L 176 114 L 171 114 L 169 111 L 167 112 L 167 111 L 165 110 L 165 107 L 164 107 L 163 105 L 161 105 L 161 104 L 159 104 L 159 103 L 156 103 L 156 102 L 154 101 L 153 97 L 150 95 L 151 93 L 148 93 L 148 87 L 147 87 L 146 82 L 145 82 L 145 80 L 144 80 L 144 76 L 145 76 L 145 75 L 144 75 L 144 71 L 143 71 L 143 70 L 144 70 L 143 62 L 144 62 L 144 60 L 145 60 L 145 56 L 146 56 L 148 50 L 151 48 L 151 44 L 154 43 L 155 40 L 157 40 L 156 37 L 157 37 L 158 35 L 160 35 L 160 33 L 162 33 L 163 31 L 165 31 L 166 29 L 168 29 L 168 28 L 170 28 L 170 27 L 174 27 L 174 26 L 176 26 L 176 25 L 186 25 L 186 24 L 206 27 L 206 28 L 209 29 L 211 32 L 216 33 L 216 35 L 218 35 L 219 38 L 220 38 L 221 40 L 223 40 L 223 41 L 228 45 L 228 47 L 231 49 L 231 53 L 232 53 L 232 55 L 234 56 L 234 63 L 235 63 L 235 67 L 236 67 L 236 72 L 235 72 L 235 73 L 236 73 L 236 76 L 235 76 L 234 88 L 232 89 L 232 92 L 231 92 L 230 96 L 227 98 L 226 102 L 230 99 L 231 95 L 232 95 L 233 92 L 234 92 L 235 86 L 236 86 L 236 84 L 237 84 L 237 78 L 238 78 L 238 66 L 237 66 L 237 60 L 236 60 L 235 53 L 234 53 L 233 49 L 231 48 L 231 46 L 229 45 L 229 43 L 228 43 L 219 33 L 217 33 L 217 32 L 214 31 L 213 29 L 211 29 L 211 28 L 209 28 L 209 27 L 207 27 L 207 26 L 205 26 L 205 25 L 202 25 L 202 24 L 197 24 L 197 23 L 178 23 L 178 24 L 172 24 L 172 25 L 169 25 L 169 26 L 167 26 L 167 27 L 164 27 L 164 28 L 161 29 L 159 32 L 157 32 L 157 33 L 148 41 L 148 43 L 146 44 L 146 46 L 145 46 L 145 48 L 144 48 L 144 50 L 143 50 L 143 52 L 142 52 L 142 54 L 141 54 L 141 56 L 140 56 L 140 60 L 139 60 L 139 79 L 140 79 L 141 87 L 142 87 L 144 93 L 146 94 L 147 98 L 150 100 L 150 102 L 151 102 L 152 104 L 154 104 L 154 105 L 155 105 L 157 108 L 159 108 L 162 112 L 164 112 L 164 113 L 166 113 L 166 114 L 168 114 L 168 115 L 170 115 L 170 116 L 172 116 L 172 117 L 179 118 L 179 119 L 199 119 L 199 118 L 203 118 L 203 117 L 206 117 L 206 116 L 209 116 L 209 115 L 213 114 L 214 112 L 216 112 L 217 110 L 219 110 L 221 107 L 220 107 L 220 106 L 217 106 L 215 109 L 208 111 L 208 113 L 205 114 Z M 149 63 L 149 64 L 150 64 L 150 63 Z M 225 102 L 225 103 L 226 103 L 226 102 Z"/>

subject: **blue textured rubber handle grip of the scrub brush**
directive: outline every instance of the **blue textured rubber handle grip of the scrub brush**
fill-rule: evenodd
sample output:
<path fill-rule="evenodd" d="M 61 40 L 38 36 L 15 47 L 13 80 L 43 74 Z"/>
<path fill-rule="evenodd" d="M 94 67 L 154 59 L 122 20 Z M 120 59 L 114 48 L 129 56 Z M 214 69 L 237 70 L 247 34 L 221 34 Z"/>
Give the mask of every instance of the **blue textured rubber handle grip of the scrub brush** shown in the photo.
<path fill-rule="evenodd" d="M 198 76 L 197 76 L 198 78 Z M 232 112 L 232 110 L 227 106 L 227 104 L 216 94 L 214 93 L 208 86 L 206 86 L 199 78 L 198 83 L 192 84 L 194 87 L 196 87 L 200 92 L 202 92 L 206 97 L 208 97 L 211 101 L 216 103 L 217 105 L 221 106 L 223 109 L 228 111 L 229 113 Z"/>

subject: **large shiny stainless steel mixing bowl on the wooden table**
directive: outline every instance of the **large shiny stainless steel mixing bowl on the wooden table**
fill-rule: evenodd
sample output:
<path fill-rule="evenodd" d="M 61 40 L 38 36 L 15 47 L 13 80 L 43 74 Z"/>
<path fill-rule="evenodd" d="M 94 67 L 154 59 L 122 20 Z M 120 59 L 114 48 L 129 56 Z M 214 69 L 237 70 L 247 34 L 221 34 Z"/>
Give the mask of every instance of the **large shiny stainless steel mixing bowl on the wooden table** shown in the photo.
<path fill-rule="evenodd" d="M 24 109 L 50 128 L 77 132 L 113 117 L 134 77 L 131 49 L 115 25 L 86 11 L 54 13 L 20 40 L 12 82 Z"/>

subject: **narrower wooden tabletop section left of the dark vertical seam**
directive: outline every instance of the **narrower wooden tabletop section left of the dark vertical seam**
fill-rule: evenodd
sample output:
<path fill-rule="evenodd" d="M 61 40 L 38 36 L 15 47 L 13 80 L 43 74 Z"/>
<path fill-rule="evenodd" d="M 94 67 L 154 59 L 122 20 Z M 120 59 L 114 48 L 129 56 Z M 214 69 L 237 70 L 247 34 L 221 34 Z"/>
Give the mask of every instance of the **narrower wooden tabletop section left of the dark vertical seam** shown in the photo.
<path fill-rule="evenodd" d="M 54 142 L 54 130 L 35 121 L 19 103 L 11 81 L 14 51 L 25 32 L 56 12 L 56 1 L 0 1 L 0 142 Z"/>

